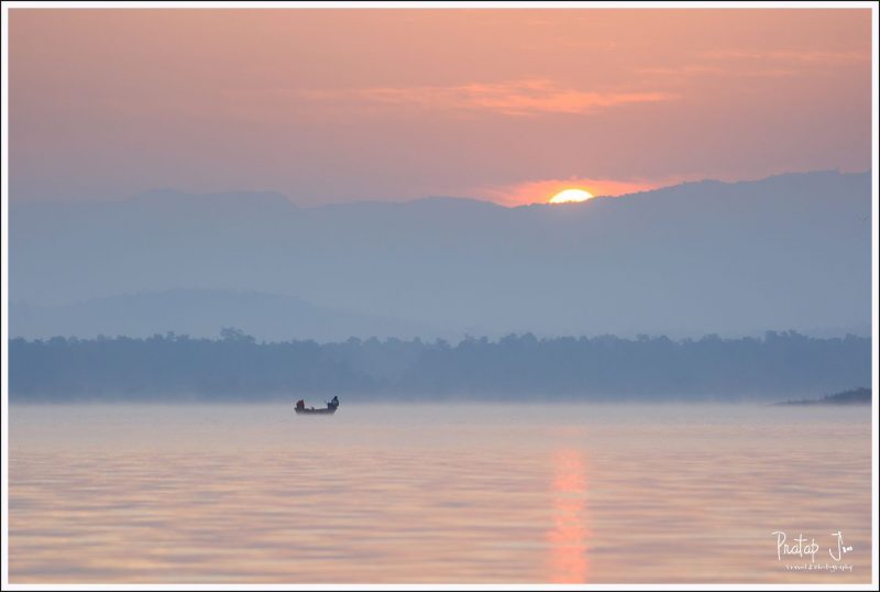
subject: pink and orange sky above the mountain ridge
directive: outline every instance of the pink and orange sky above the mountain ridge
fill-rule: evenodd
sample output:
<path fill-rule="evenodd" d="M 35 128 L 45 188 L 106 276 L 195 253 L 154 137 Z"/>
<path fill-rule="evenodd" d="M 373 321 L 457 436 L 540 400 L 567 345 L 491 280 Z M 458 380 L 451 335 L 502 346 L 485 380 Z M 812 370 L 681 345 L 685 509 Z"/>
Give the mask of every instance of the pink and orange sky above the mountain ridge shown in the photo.
<path fill-rule="evenodd" d="M 519 205 L 870 167 L 868 9 L 9 13 L 13 200 Z"/>

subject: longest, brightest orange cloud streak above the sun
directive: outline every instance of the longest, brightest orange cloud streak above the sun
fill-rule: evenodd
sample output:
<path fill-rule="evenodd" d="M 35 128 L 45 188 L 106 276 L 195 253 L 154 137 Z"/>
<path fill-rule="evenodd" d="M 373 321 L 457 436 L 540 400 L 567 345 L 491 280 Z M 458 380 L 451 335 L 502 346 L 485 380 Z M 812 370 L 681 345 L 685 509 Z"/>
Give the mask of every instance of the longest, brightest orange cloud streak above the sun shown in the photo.
<path fill-rule="evenodd" d="M 544 79 L 459 86 L 375 87 L 350 91 L 306 91 L 312 99 L 349 98 L 374 105 L 425 110 L 483 110 L 505 116 L 590 113 L 620 105 L 668 101 L 675 95 L 660 91 L 603 92 L 560 87 Z"/>

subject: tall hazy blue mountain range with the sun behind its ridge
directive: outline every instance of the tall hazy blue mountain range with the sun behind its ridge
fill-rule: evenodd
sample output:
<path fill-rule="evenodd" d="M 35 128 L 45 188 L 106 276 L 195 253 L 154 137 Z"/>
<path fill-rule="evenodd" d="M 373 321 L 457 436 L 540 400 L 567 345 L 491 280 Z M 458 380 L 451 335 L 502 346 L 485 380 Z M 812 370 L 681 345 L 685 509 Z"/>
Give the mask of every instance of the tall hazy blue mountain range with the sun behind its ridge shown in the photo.
<path fill-rule="evenodd" d="M 820 172 L 519 208 L 453 198 L 297 208 L 277 194 L 173 191 L 12 201 L 10 299 L 193 287 L 490 337 L 867 335 L 870 196 L 868 173 Z M 253 322 L 278 320 L 254 308 Z M 327 330 L 352 332 L 345 322 L 327 317 Z"/>

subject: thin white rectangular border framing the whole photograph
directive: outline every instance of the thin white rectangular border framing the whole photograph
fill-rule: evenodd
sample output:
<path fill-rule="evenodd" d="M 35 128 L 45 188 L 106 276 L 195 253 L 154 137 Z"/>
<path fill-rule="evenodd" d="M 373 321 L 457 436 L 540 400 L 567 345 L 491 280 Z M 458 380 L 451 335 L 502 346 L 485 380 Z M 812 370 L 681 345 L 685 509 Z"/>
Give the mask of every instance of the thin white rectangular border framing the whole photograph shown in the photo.
<path fill-rule="evenodd" d="M 871 171 L 871 190 L 873 207 L 871 208 L 871 230 L 872 230 L 872 265 L 871 265 L 871 286 L 872 286 L 872 307 L 871 307 L 871 348 L 873 354 L 871 387 L 873 393 L 872 401 L 872 568 L 871 583 L 868 584 L 11 584 L 9 582 L 9 10 L 16 8 L 29 9 L 88 9 L 88 8 L 140 8 L 140 9 L 173 9 L 173 8 L 293 8 L 293 9 L 462 9 L 462 8 L 485 8 L 485 9 L 508 9 L 508 8 L 557 8 L 557 9 L 669 9 L 669 8 L 726 8 L 726 9 L 763 9 L 763 8 L 784 8 L 784 9 L 862 9 L 871 11 L 871 51 L 872 51 L 872 101 L 875 109 L 871 136 L 872 136 L 872 163 L 875 167 L 878 163 L 878 6 L 871 1 L 804 1 L 804 2 L 559 2 L 559 1 L 400 1 L 400 2 L 241 2 L 241 1 L 170 1 L 170 2 L 148 2 L 148 1 L 120 1 L 120 2 L 29 2 L 11 1 L 2 4 L 2 162 L 0 163 L 0 177 L 2 178 L 2 202 L 0 202 L 0 232 L 2 232 L 2 254 L 0 264 L 2 265 L 2 310 L 0 310 L 0 347 L 2 347 L 2 588 L 3 590 L 877 590 L 878 589 L 878 358 L 880 358 L 880 347 L 878 347 L 878 319 L 880 309 L 878 308 L 878 171 Z"/>

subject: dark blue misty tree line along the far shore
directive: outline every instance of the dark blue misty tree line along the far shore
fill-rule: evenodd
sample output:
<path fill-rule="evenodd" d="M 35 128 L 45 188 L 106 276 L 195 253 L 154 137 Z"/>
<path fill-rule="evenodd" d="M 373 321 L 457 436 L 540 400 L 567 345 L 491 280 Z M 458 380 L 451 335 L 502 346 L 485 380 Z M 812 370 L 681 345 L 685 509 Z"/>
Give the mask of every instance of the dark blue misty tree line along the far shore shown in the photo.
<path fill-rule="evenodd" d="M 868 338 L 671 340 L 640 336 L 258 342 L 175 333 L 10 340 L 9 387 L 28 401 L 256 401 L 329 394 L 404 399 L 732 399 L 870 384 Z"/>

